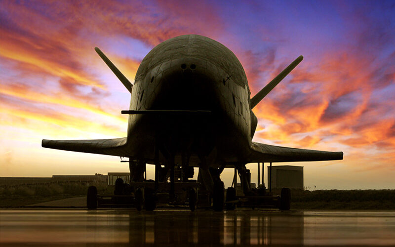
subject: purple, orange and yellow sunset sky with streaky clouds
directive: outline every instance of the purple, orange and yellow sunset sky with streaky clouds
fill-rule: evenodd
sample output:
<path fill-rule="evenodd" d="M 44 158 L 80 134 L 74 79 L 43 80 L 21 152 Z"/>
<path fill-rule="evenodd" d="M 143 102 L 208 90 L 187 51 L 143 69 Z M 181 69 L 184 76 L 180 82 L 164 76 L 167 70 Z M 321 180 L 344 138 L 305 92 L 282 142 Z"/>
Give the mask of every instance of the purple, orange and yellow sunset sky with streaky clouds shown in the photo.
<path fill-rule="evenodd" d="M 254 108 L 254 141 L 344 160 L 274 165 L 304 166 L 311 189 L 395 189 L 394 1 L 42 2 L 0 1 L 0 176 L 127 172 L 41 139 L 126 136 L 130 93 L 95 46 L 133 81 L 155 45 L 198 34 L 236 54 L 251 95 L 304 56 Z"/>

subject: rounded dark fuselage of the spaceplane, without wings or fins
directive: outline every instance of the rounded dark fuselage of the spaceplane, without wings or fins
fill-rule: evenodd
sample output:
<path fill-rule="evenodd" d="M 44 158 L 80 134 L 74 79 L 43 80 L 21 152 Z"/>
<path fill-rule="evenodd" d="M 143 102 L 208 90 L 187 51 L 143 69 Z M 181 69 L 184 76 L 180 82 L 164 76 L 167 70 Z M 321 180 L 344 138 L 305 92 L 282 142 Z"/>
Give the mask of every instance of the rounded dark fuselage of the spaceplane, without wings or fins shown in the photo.
<path fill-rule="evenodd" d="M 162 150 L 213 157 L 233 163 L 251 146 L 256 117 L 250 91 L 235 54 L 221 43 L 198 35 L 164 41 L 143 59 L 132 89 L 129 110 L 206 110 L 210 115 L 129 115 L 128 145 L 133 156 L 150 162 L 156 140 Z"/>

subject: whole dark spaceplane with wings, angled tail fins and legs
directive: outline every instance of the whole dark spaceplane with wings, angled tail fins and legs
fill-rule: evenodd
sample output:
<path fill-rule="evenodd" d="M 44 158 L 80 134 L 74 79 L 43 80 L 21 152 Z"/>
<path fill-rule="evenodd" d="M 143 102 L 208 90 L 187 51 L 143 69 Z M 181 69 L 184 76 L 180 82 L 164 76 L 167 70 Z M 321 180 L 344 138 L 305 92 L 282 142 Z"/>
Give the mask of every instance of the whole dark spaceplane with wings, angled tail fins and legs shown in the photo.
<path fill-rule="evenodd" d="M 127 136 L 42 140 L 42 147 L 128 157 L 130 180 L 138 198 L 143 193 L 140 188 L 148 188 L 140 183 L 145 181 L 147 163 L 156 166 L 155 185 L 144 191 L 144 198 L 152 198 L 160 183 L 169 178 L 170 199 L 175 199 L 175 165 L 181 165 L 185 186 L 190 185 L 187 182 L 195 166 L 199 167 L 198 182 L 202 185 L 199 191 L 213 195 L 214 209 L 222 210 L 224 183 L 220 174 L 225 167 L 237 168 L 246 194 L 251 191 L 247 163 L 343 159 L 342 152 L 252 142 L 258 123 L 252 109 L 302 61 L 302 56 L 251 97 L 235 54 L 207 37 L 184 35 L 158 44 L 141 62 L 134 85 L 99 48 L 95 50 L 131 92 L 129 110 L 122 111 L 129 115 Z M 196 188 L 188 188 L 192 204 Z"/>

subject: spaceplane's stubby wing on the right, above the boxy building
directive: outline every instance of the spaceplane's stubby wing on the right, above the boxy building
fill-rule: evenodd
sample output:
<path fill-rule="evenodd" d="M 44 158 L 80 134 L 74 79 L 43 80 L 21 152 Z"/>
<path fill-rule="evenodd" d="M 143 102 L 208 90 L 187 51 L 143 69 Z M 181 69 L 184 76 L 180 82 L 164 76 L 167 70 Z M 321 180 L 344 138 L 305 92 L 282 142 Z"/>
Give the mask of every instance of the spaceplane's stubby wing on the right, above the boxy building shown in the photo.
<path fill-rule="evenodd" d="M 288 148 L 257 142 L 252 142 L 251 148 L 251 163 L 343 160 L 343 152 Z"/>

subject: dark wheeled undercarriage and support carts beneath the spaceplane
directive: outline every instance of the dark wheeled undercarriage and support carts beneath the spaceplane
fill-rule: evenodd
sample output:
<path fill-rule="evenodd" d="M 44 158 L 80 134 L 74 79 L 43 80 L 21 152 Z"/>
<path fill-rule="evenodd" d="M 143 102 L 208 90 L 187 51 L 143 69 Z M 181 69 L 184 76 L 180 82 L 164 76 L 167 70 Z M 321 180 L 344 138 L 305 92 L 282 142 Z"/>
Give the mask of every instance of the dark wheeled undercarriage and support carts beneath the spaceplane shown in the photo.
<path fill-rule="evenodd" d="M 174 164 L 174 163 L 170 163 Z M 220 174 L 224 169 L 200 165 L 197 180 L 193 167 L 177 165 L 155 165 L 155 180 L 147 180 L 146 164 L 130 162 L 129 184 L 118 178 L 115 182 L 114 195 L 98 195 L 94 186 L 88 188 L 86 205 L 88 209 L 98 206 L 135 207 L 138 211 L 153 211 L 158 205 L 185 207 L 191 211 L 199 207 L 211 207 L 215 211 L 234 210 L 236 207 L 264 208 L 278 207 L 290 209 L 291 191 L 282 188 L 280 196 L 273 196 L 264 186 L 251 189 L 250 172 L 245 165 L 236 165 L 232 187 L 225 191 Z M 241 192 L 237 195 L 237 175 L 240 178 Z M 225 197 L 226 194 L 226 197 Z M 240 195 L 241 194 L 241 195 Z"/>

